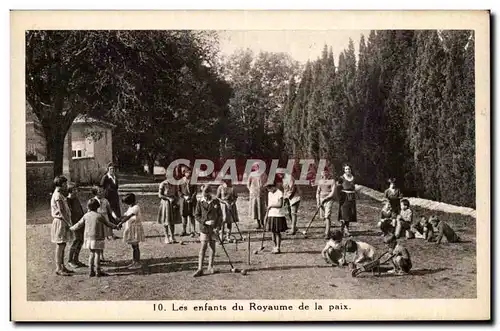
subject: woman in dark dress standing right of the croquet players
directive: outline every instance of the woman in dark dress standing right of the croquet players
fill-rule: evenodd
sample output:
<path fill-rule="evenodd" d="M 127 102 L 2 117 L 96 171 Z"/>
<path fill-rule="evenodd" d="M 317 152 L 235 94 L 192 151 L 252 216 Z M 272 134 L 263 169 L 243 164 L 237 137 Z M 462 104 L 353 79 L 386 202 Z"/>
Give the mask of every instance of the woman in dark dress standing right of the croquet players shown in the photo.
<path fill-rule="evenodd" d="M 340 202 L 339 202 L 339 221 L 340 230 L 349 236 L 349 224 L 357 222 L 356 215 L 356 185 L 352 168 L 349 164 L 342 166 L 344 174 L 339 180 Z"/>

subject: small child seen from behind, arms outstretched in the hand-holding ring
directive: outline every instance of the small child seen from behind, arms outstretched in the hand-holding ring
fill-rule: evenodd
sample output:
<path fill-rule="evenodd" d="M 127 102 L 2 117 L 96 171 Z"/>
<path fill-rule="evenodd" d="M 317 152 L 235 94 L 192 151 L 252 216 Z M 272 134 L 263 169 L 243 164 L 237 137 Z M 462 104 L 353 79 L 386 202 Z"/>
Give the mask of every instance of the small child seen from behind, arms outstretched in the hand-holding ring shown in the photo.
<path fill-rule="evenodd" d="M 101 256 L 104 250 L 104 227 L 118 229 L 118 226 L 109 222 L 102 214 L 98 213 L 99 201 L 92 198 L 87 202 L 88 211 L 83 217 L 71 227 L 72 231 L 85 227 L 83 246 L 90 250 L 89 255 L 89 277 L 108 276 L 101 270 Z M 95 267 L 95 269 L 94 269 Z"/>

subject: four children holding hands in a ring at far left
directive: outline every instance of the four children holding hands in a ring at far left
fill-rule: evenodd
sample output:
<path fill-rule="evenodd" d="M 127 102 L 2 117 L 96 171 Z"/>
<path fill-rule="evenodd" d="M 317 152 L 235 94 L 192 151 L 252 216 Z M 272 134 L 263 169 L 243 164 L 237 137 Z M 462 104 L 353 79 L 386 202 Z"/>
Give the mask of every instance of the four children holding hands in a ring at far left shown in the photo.
<path fill-rule="evenodd" d="M 51 199 L 51 239 L 56 244 L 56 274 L 70 276 L 76 268 L 85 267 L 79 260 L 82 248 L 90 251 L 89 277 L 107 276 L 101 269 L 104 259 L 105 240 L 112 239 L 113 229 L 124 227 L 123 241 L 132 248 L 132 263 L 128 267 L 140 266 L 139 243 L 144 241 L 143 217 L 136 203 L 135 195 L 127 194 L 122 202 L 128 206 L 122 217 L 116 217 L 109 201 L 104 198 L 102 187 L 92 188 L 93 198 L 87 201 L 87 212 L 83 211 L 73 183 L 64 176 L 54 179 L 54 193 Z M 64 264 L 66 244 L 71 243 L 67 268 Z"/>

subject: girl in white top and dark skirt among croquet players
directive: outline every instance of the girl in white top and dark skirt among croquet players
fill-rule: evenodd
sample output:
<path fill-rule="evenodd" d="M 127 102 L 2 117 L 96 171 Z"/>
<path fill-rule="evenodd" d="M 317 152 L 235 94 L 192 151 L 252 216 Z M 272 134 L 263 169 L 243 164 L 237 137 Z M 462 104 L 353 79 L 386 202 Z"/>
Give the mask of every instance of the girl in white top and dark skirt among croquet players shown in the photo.
<path fill-rule="evenodd" d="M 267 229 L 272 233 L 274 248 L 273 254 L 281 253 L 281 232 L 288 229 L 286 214 L 283 208 L 283 192 L 278 190 L 276 182 L 266 185 L 268 190 L 267 201 Z"/>

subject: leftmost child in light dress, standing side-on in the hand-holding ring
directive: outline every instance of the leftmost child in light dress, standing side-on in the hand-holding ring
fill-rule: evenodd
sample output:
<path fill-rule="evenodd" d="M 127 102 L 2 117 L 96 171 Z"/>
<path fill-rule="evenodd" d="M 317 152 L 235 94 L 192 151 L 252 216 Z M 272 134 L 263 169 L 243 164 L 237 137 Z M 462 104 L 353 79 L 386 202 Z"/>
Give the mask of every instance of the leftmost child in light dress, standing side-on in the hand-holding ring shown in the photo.
<path fill-rule="evenodd" d="M 56 244 L 56 274 L 58 276 L 69 276 L 73 271 L 64 266 L 64 249 L 66 243 L 73 241 L 74 235 L 70 231 L 71 212 L 64 194 L 66 193 L 68 180 L 64 176 L 54 178 L 54 192 L 50 200 L 50 211 L 52 215 L 51 241 Z"/>

